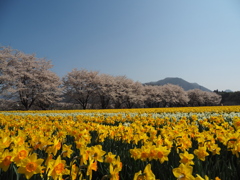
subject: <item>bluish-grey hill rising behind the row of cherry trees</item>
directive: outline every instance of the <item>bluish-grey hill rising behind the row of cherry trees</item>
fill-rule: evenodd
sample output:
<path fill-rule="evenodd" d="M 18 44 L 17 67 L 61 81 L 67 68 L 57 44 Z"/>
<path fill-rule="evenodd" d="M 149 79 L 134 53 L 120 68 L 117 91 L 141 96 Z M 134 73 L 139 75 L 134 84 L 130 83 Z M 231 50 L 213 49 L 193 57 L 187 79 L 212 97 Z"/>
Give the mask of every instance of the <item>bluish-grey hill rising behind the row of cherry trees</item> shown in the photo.
<path fill-rule="evenodd" d="M 162 86 L 164 84 L 174 84 L 174 85 L 178 85 L 180 87 L 182 87 L 185 91 L 188 91 L 190 89 L 200 89 L 202 91 L 209 91 L 209 92 L 212 92 L 210 89 L 207 89 L 197 83 L 190 83 L 190 82 L 187 82 L 185 81 L 184 79 L 181 79 L 181 78 L 177 78 L 177 77 L 168 77 L 168 78 L 165 78 L 163 80 L 159 80 L 159 81 L 156 81 L 156 82 L 148 82 L 148 83 L 144 83 L 146 85 L 158 85 L 158 86 Z"/>

